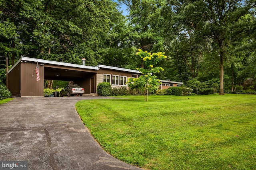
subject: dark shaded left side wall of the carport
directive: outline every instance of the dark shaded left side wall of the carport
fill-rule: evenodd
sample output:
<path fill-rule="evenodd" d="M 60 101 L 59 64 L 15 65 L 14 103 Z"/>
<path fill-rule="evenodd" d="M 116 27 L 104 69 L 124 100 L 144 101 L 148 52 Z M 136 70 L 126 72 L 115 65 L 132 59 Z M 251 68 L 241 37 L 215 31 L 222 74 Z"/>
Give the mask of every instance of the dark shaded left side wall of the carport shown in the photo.
<path fill-rule="evenodd" d="M 9 72 L 8 80 L 12 96 L 20 96 L 20 63 Z"/>

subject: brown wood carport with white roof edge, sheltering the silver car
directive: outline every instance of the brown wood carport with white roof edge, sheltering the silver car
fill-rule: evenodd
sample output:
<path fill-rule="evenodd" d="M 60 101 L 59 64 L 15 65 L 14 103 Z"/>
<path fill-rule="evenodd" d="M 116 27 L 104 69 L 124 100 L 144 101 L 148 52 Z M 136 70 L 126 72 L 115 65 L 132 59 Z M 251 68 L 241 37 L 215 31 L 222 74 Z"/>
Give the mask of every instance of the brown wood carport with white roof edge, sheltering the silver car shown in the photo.
<path fill-rule="evenodd" d="M 36 64 L 40 80 L 36 80 Z M 44 96 L 44 80 L 72 81 L 85 88 L 85 94 L 96 93 L 98 67 L 21 57 L 8 71 L 12 96 Z"/>

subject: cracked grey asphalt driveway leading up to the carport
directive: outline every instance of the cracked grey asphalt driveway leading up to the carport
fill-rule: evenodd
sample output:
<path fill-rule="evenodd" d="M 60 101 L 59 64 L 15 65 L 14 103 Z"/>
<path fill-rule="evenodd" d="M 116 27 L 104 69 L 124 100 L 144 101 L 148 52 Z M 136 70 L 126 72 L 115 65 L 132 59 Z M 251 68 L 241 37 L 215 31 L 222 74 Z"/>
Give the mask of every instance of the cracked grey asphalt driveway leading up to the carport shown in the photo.
<path fill-rule="evenodd" d="M 0 105 L 0 160 L 27 160 L 29 170 L 140 170 L 110 156 L 84 127 L 75 104 L 95 98 L 14 98 Z"/>

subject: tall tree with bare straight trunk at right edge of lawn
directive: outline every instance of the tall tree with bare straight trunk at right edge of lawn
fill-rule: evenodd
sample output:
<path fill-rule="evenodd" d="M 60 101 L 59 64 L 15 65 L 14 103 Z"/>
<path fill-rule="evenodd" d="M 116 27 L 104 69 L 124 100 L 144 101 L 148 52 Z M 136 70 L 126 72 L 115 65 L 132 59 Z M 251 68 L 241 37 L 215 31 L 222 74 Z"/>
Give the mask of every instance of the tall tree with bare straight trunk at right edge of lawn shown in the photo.
<path fill-rule="evenodd" d="M 177 12 L 186 16 L 186 22 L 200 30 L 201 36 L 207 36 L 213 40 L 212 48 L 219 55 L 219 94 L 224 94 L 224 61 L 227 57 L 230 36 L 235 35 L 230 25 L 249 14 L 256 6 L 256 2 L 252 0 L 182 0 L 176 6 L 179 9 Z"/>

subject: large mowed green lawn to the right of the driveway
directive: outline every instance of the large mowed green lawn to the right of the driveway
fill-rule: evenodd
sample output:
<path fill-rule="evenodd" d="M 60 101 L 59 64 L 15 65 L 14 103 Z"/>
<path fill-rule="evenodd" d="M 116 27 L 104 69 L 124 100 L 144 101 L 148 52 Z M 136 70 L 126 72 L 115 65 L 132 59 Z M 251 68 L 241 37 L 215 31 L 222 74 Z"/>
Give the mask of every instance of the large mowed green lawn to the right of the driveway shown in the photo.
<path fill-rule="evenodd" d="M 120 98 L 76 104 L 119 160 L 150 170 L 256 169 L 256 95 Z"/>

